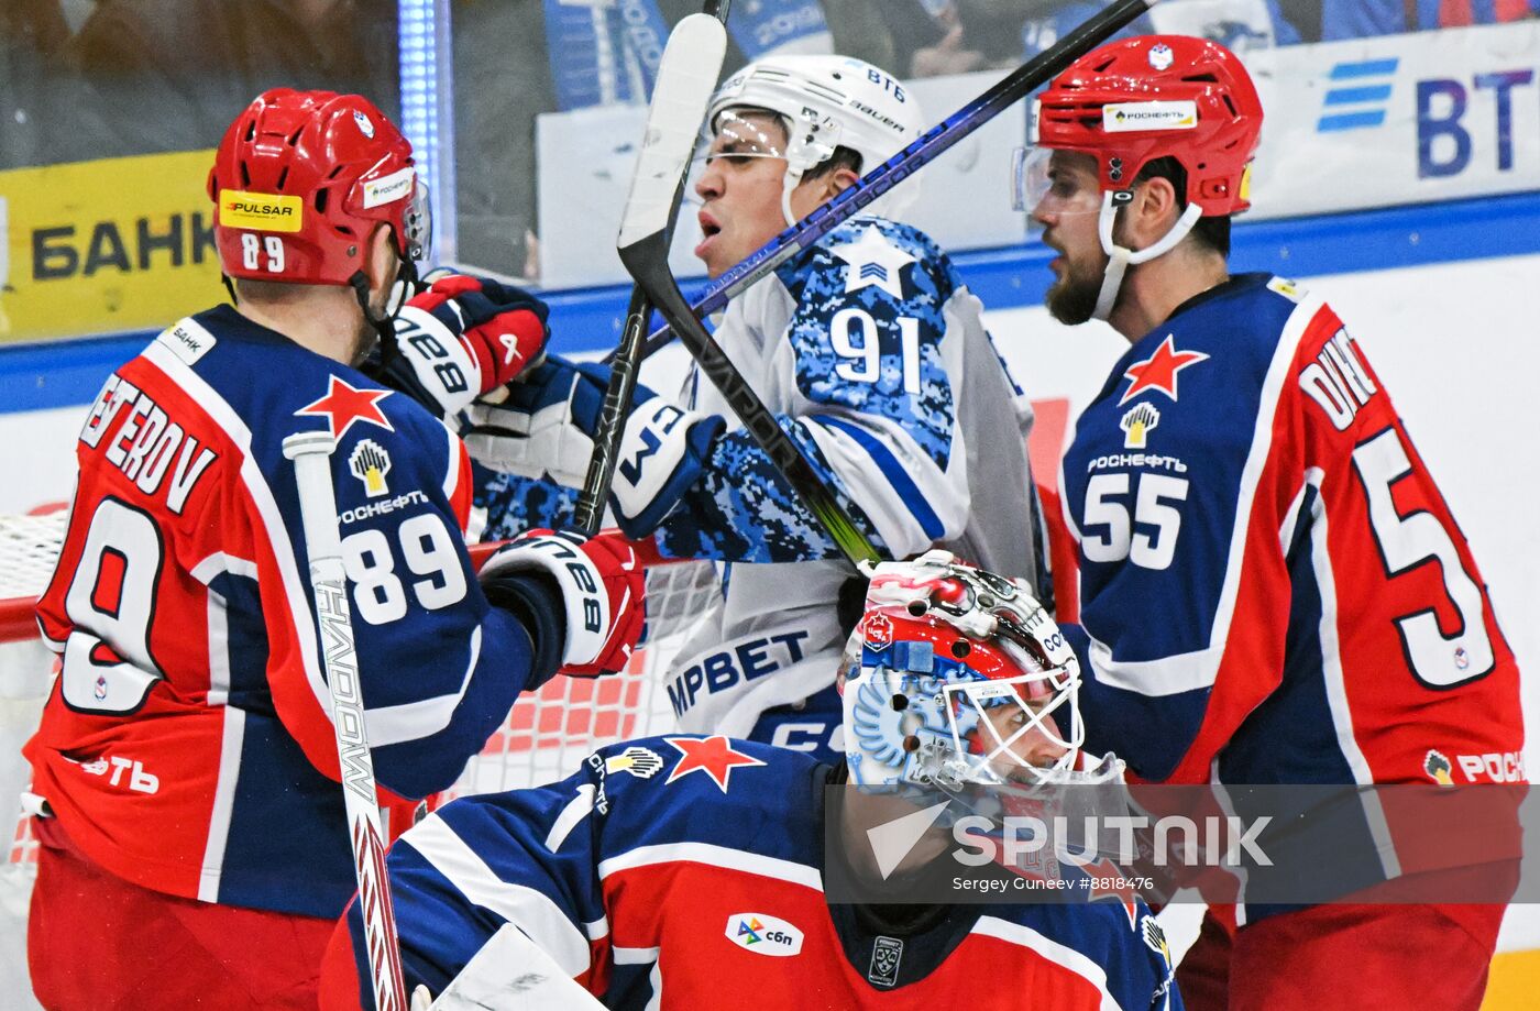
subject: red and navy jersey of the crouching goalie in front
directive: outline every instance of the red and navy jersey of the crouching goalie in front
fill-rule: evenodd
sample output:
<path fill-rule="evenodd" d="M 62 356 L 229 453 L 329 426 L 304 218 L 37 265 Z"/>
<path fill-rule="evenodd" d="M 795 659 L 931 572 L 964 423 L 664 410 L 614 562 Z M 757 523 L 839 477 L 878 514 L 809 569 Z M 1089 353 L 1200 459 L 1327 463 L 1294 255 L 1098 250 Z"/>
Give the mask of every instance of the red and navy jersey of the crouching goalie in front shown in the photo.
<path fill-rule="evenodd" d="M 1180 1011 L 1137 900 L 950 906 L 892 937 L 829 905 L 832 772 L 765 744 L 665 737 L 601 749 L 551 786 L 447 804 L 388 860 L 408 989 L 442 994 L 511 923 L 616 1009 Z M 354 905 L 322 969 L 326 1011 L 373 1006 L 360 949 Z"/>

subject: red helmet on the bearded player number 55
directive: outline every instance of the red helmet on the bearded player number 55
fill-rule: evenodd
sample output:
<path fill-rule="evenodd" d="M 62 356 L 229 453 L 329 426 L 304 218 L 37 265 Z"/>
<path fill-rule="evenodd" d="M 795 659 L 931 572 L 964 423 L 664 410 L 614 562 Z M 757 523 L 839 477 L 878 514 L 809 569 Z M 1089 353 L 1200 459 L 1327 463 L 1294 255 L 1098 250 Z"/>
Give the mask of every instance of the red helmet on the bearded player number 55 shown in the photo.
<path fill-rule="evenodd" d="M 1041 148 L 1095 157 L 1103 190 L 1127 190 L 1146 163 L 1175 157 L 1187 203 L 1238 214 L 1250 207 L 1261 99 L 1217 42 L 1144 35 L 1072 63 L 1038 97 L 1035 131 Z"/>

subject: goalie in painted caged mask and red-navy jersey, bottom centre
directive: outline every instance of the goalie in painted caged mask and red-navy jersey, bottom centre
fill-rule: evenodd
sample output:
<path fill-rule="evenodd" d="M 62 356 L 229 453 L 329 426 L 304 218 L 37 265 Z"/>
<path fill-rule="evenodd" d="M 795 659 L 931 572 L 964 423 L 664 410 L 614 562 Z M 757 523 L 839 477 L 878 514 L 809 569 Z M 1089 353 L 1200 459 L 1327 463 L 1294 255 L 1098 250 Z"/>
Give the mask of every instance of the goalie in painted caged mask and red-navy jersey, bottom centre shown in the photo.
<path fill-rule="evenodd" d="M 959 866 L 939 858 L 952 834 L 935 812 L 887 866 L 889 902 L 904 905 L 827 897 L 836 875 L 884 875 L 869 829 L 913 815 L 921 791 L 921 804 L 950 809 L 1006 783 L 1115 781 L 1116 758 L 1080 747 L 1078 681 L 1024 583 L 939 550 L 879 566 L 839 678 L 842 761 L 647 738 L 601 749 L 561 783 L 453 801 L 388 860 L 407 977 L 514 1006 L 539 969 L 477 954 L 522 931 L 610 1008 L 1178 1009 L 1137 898 L 915 902 L 921 880 Z M 850 789 L 825 800 L 830 784 Z M 371 1006 L 362 951 L 354 906 L 326 954 L 328 1011 Z"/>

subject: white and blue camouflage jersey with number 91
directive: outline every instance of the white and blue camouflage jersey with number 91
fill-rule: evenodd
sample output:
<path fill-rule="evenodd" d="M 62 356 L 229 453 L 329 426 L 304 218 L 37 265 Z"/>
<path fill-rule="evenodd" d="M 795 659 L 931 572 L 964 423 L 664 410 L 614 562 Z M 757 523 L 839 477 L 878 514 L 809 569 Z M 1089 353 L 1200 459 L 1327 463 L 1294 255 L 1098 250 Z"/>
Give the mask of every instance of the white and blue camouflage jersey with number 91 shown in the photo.
<path fill-rule="evenodd" d="M 878 550 L 912 558 L 942 546 L 1036 579 L 1032 405 L 995 353 L 979 301 L 929 236 L 881 217 L 845 222 L 735 297 L 716 341 Z M 836 601 L 853 570 L 698 368 L 678 402 L 730 424 L 661 519 L 658 546 L 732 567 L 678 653 L 668 700 L 685 731 L 748 737 L 768 709 L 833 695 L 849 633 Z M 644 484 L 645 464 L 622 461 L 616 481 L 641 469 Z M 564 522 L 567 502 L 537 487 L 507 475 L 484 482 L 487 533 Z M 838 709 L 835 700 L 822 717 L 838 723 Z M 773 743 L 827 746 L 832 724 L 802 714 Z"/>

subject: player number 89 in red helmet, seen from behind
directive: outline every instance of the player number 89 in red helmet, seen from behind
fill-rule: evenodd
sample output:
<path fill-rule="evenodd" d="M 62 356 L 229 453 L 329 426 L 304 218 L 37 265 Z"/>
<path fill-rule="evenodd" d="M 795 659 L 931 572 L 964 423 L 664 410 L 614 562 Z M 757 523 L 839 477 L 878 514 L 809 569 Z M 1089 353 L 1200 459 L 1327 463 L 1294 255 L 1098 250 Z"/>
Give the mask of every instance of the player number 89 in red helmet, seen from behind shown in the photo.
<path fill-rule="evenodd" d="M 354 875 L 285 436 L 337 439 L 388 835 L 519 692 L 564 666 L 619 669 L 641 626 L 622 542 L 531 535 L 477 581 L 464 447 L 356 368 L 383 341 L 399 370 L 400 331 L 442 351 L 440 391 L 474 396 L 545 341 L 524 296 L 479 280 L 440 282 L 397 317 L 428 222 L 411 148 L 379 109 L 260 96 L 220 143 L 209 196 L 236 305 L 180 321 L 108 379 L 38 604 L 62 666 L 26 746 L 42 841 L 28 949 L 54 1009 L 316 1005 Z"/>

